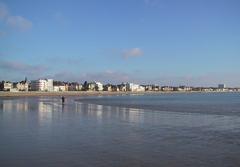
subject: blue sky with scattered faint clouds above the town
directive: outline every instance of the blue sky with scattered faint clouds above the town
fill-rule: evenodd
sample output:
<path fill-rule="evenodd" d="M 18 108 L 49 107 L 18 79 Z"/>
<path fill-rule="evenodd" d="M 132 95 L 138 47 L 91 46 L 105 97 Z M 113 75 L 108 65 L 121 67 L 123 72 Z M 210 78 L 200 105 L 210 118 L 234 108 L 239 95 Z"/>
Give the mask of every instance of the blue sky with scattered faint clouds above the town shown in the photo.
<path fill-rule="evenodd" d="M 0 0 L 0 80 L 240 87 L 239 0 Z"/>

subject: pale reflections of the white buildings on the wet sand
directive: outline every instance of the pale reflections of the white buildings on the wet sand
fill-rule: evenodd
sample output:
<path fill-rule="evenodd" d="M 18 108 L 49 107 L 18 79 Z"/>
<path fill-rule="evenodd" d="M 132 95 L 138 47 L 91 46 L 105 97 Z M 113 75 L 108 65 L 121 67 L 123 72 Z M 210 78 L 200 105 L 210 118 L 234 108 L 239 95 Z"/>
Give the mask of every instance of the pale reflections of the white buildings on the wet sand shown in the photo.
<path fill-rule="evenodd" d="M 30 112 L 37 111 L 39 121 L 50 121 L 53 114 L 59 112 L 78 112 L 82 116 L 96 118 L 98 121 L 103 121 L 109 118 L 120 118 L 129 122 L 143 121 L 142 109 L 119 108 L 111 106 L 103 106 L 96 104 L 83 104 L 74 100 L 65 104 L 61 104 L 59 99 L 12 99 L 0 101 L 1 111 L 3 112 Z M 55 112 L 55 113 L 54 113 Z"/>

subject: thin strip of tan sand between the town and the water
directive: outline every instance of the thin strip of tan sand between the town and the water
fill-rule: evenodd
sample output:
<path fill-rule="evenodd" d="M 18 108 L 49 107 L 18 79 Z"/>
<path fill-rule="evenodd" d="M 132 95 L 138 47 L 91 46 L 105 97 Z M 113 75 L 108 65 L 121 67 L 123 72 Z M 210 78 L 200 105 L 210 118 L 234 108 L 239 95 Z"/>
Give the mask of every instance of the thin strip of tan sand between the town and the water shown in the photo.
<path fill-rule="evenodd" d="M 146 92 L 108 92 L 108 91 L 66 91 L 66 92 L 0 92 L 0 97 L 40 97 L 40 96 L 112 96 L 112 95 L 157 95 L 174 93 L 240 93 L 218 91 L 146 91 Z"/>

